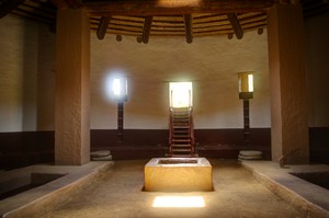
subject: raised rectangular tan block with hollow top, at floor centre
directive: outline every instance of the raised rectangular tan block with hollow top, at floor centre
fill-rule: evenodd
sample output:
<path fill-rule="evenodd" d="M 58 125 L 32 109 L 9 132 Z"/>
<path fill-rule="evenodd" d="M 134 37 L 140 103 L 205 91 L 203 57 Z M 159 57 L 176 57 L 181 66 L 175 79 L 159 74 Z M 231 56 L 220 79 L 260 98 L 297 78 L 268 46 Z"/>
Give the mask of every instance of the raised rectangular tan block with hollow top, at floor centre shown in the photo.
<path fill-rule="evenodd" d="M 146 192 L 211 192 L 213 172 L 205 158 L 154 158 L 144 168 Z"/>

